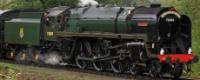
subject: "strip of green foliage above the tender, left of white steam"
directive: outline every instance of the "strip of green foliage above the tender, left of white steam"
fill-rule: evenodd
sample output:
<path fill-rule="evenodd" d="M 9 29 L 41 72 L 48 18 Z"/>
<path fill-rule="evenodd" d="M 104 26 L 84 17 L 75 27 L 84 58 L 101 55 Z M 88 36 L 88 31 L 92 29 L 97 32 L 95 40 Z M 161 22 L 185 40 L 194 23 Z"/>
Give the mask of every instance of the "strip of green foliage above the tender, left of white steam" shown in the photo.
<path fill-rule="evenodd" d="M 0 9 L 48 8 L 56 6 L 75 6 L 79 0 L 0 0 Z"/>

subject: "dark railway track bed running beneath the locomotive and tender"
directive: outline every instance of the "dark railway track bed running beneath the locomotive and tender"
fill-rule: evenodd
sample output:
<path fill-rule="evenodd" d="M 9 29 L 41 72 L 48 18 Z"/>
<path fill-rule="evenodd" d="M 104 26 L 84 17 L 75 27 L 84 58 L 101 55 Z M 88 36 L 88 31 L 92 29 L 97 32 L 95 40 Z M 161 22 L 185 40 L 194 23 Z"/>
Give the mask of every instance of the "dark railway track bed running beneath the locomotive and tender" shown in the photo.
<path fill-rule="evenodd" d="M 15 65 L 23 65 L 23 66 L 35 66 L 35 67 L 41 67 L 41 68 L 47 68 L 47 69 L 56 69 L 56 70 L 65 70 L 65 71 L 72 71 L 72 72 L 81 72 L 81 73 L 88 73 L 88 74 L 95 74 L 95 75 L 102 75 L 102 76 L 108 76 L 108 77 L 115 77 L 115 78 L 122 78 L 125 80 L 194 80 L 189 78 L 179 78 L 179 79 L 173 79 L 170 77 L 162 77 L 162 78 L 152 78 L 147 75 L 130 75 L 130 74 L 118 74 L 118 73 L 112 73 L 112 72 L 97 72 L 92 69 L 79 69 L 75 66 L 53 66 L 53 65 L 46 65 L 46 64 L 33 64 L 33 63 L 16 63 L 12 60 L 1 60 L 1 62 L 15 64 Z"/>

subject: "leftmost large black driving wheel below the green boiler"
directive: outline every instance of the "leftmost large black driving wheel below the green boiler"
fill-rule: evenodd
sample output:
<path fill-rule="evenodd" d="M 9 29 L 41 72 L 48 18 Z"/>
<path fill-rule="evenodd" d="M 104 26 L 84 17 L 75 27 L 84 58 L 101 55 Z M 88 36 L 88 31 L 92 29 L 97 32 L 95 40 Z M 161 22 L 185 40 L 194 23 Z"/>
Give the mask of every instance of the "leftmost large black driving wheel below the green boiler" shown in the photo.
<path fill-rule="evenodd" d="M 78 47 L 79 47 L 78 48 L 79 50 L 78 50 L 77 57 L 76 57 L 76 65 L 81 69 L 85 69 L 89 64 L 89 61 L 81 60 L 80 58 L 88 57 L 88 55 L 91 53 L 91 46 L 90 46 L 89 42 L 84 41 L 83 43 L 80 42 Z"/>

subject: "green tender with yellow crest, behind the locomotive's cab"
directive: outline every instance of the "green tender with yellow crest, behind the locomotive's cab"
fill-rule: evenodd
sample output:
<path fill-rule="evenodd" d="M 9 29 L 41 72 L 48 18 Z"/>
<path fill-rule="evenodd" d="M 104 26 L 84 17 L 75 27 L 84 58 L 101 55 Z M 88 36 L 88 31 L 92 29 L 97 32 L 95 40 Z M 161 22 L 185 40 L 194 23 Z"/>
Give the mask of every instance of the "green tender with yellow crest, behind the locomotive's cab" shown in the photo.
<path fill-rule="evenodd" d="M 43 12 L 22 10 L 17 18 L 5 22 L 5 42 L 7 44 L 40 45 L 40 26 Z"/>

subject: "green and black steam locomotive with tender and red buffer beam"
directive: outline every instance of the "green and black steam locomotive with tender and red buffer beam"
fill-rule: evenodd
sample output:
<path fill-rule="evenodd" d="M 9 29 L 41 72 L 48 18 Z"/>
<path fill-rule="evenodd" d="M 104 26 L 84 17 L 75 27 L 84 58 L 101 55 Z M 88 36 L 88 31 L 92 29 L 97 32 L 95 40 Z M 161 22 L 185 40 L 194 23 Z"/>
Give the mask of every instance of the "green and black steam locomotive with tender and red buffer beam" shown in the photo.
<path fill-rule="evenodd" d="M 174 7 L 55 7 L 0 12 L 1 58 L 180 77 L 198 61 L 191 20 Z"/>

